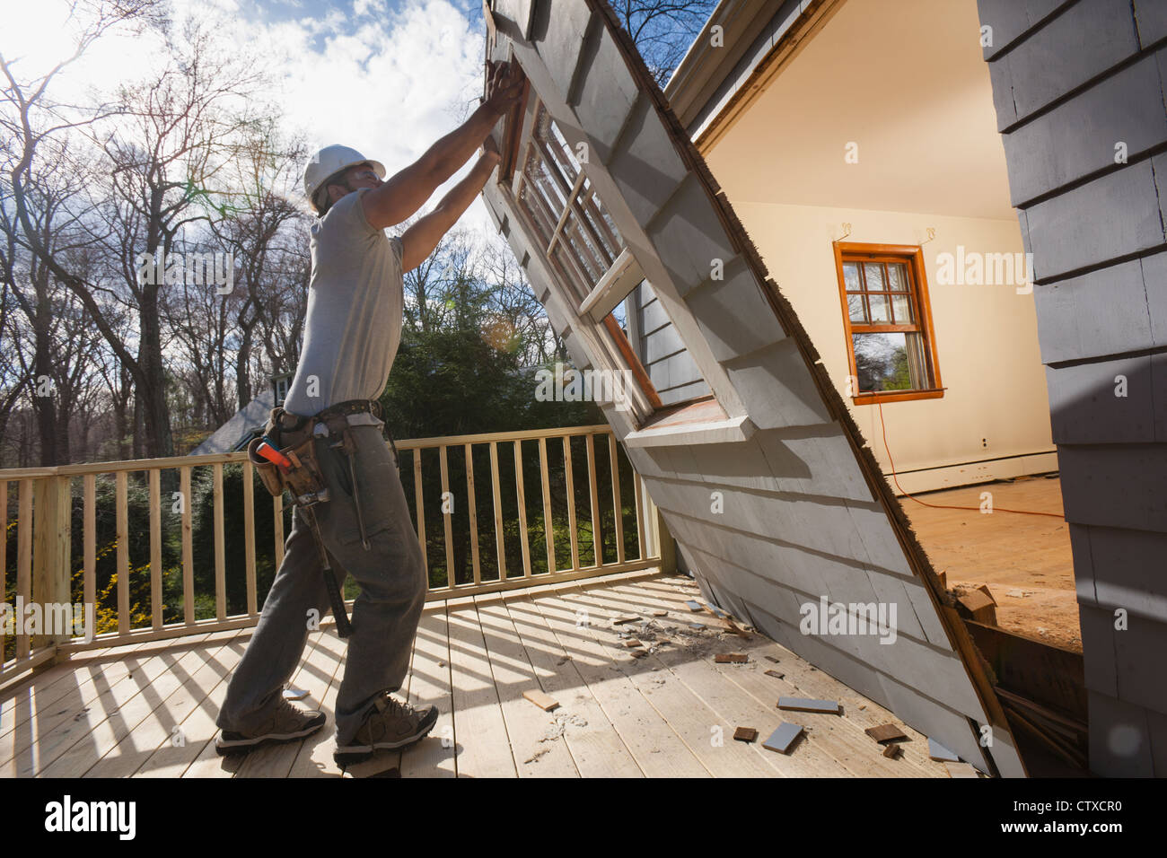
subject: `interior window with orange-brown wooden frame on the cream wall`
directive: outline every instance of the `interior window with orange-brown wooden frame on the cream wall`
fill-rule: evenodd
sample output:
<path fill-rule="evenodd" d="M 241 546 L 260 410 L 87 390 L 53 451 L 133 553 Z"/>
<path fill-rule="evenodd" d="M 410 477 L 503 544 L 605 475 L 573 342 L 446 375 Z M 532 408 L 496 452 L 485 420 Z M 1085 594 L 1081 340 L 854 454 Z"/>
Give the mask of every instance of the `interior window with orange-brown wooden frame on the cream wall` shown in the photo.
<path fill-rule="evenodd" d="M 837 242 L 834 260 L 854 403 L 943 396 L 923 250 Z"/>

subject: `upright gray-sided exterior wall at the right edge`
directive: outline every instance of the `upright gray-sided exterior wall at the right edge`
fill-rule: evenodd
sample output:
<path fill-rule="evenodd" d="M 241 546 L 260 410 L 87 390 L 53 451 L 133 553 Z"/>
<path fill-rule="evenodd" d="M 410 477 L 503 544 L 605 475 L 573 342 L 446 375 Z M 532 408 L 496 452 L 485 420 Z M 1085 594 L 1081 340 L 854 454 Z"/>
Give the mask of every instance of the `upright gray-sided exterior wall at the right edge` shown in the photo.
<path fill-rule="evenodd" d="M 1034 254 L 1090 767 L 1162 777 L 1167 4 L 980 0 L 979 9 L 993 34 L 984 58 L 1012 202 Z"/>

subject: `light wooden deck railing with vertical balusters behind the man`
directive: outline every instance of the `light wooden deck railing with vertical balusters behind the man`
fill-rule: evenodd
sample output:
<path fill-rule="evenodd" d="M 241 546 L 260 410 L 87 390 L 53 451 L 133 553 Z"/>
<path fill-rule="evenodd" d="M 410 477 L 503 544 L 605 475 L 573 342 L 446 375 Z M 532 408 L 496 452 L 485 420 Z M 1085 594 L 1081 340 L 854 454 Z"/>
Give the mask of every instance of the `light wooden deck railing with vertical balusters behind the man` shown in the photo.
<path fill-rule="evenodd" d="M 398 441 L 397 449 L 429 570 L 429 600 L 659 563 L 656 508 L 608 426 L 420 438 Z M 580 479 L 587 482 L 582 510 Z M 89 641 L 61 629 L 21 634 L 28 627 L 19 625 L 12 641 L 0 627 L 0 686 L 74 651 L 258 622 L 259 572 L 270 585 L 284 559 L 291 511 L 277 497 L 266 515 L 268 495 L 259 486 L 257 496 L 257 482 L 242 452 L 0 469 L 0 571 L 9 611 L 18 599 L 95 606 L 98 627 Z M 427 486 L 440 487 L 440 495 L 427 495 Z M 492 543 L 489 553 L 480 550 L 484 542 Z"/>

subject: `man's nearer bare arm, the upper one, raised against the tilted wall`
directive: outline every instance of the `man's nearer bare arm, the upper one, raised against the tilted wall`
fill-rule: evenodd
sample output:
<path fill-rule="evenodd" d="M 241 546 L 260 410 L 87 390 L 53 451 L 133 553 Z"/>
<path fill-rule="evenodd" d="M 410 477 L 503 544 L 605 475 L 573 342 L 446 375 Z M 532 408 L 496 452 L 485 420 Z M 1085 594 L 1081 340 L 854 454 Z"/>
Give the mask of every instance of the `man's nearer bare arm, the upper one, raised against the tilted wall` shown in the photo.
<path fill-rule="evenodd" d="M 470 118 L 438 140 L 414 163 L 364 195 L 362 204 L 369 224 L 375 229 L 386 229 L 420 209 L 434 190 L 454 175 L 482 145 L 498 118 L 511 107 L 522 91 L 522 79 L 513 67 L 509 63 L 492 65 L 487 82 L 487 98 Z"/>

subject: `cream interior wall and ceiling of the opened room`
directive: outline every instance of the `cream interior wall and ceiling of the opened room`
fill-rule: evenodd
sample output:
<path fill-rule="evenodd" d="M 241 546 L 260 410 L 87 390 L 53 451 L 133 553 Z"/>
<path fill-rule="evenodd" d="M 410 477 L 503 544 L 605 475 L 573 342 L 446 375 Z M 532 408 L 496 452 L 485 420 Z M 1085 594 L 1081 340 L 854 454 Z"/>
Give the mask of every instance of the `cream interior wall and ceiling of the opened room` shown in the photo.
<path fill-rule="evenodd" d="M 897 494 L 1057 469 L 1033 295 L 937 277 L 958 246 L 1023 252 L 977 32 L 974 0 L 845 0 L 703 145 Z M 942 398 L 853 404 L 844 223 L 846 242 L 923 245 Z"/>

